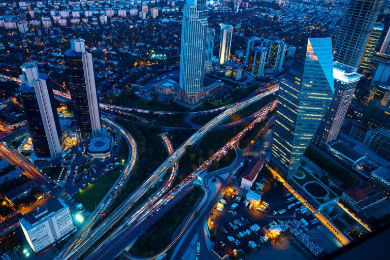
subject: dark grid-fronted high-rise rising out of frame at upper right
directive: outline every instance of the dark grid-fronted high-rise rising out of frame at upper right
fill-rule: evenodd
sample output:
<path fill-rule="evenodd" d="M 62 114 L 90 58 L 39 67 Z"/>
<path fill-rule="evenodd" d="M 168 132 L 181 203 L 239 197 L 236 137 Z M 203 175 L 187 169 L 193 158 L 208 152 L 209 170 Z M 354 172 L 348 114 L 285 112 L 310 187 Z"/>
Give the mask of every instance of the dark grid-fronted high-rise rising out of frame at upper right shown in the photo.
<path fill-rule="evenodd" d="M 334 58 L 358 68 L 384 0 L 350 0 L 337 36 Z"/>

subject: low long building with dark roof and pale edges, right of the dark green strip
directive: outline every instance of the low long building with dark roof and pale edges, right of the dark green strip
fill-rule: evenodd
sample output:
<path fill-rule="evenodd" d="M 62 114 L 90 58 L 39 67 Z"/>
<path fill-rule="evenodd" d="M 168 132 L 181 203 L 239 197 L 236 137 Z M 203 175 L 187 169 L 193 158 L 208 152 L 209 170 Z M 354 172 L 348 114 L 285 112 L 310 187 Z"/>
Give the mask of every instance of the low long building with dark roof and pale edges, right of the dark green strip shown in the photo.
<path fill-rule="evenodd" d="M 353 148 L 343 142 L 335 142 L 328 147 L 328 153 L 341 164 L 348 168 L 354 168 L 359 162 L 366 158 L 366 155 L 355 151 Z"/>

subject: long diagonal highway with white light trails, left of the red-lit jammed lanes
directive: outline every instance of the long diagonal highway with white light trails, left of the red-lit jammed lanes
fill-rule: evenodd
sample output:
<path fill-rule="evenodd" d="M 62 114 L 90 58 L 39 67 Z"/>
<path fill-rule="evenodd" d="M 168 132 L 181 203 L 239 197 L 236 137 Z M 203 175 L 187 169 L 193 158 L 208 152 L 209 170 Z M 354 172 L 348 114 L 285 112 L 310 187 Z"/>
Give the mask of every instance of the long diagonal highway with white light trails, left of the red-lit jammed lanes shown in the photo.
<path fill-rule="evenodd" d="M 126 200 L 122 202 L 96 229 L 93 230 L 88 237 L 84 237 L 83 241 L 77 241 L 77 245 L 72 249 L 67 249 L 66 253 L 60 254 L 58 259 L 75 259 L 80 257 L 88 248 L 94 245 L 104 234 L 106 234 L 113 225 L 121 220 L 121 217 L 133 209 L 133 206 L 146 194 L 150 188 L 172 168 L 178 159 L 185 153 L 186 147 L 197 143 L 204 135 L 206 135 L 214 126 L 219 124 L 230 115 L 249 106 L 253 102 L 262 99 L 264 96 L 275 93 L 278 87 L 275 86 L 263 93 L 257 94 L 252 98 L 237 103 L 233 107 L 226 109 L 218 116 L 214 117 L 201 129 L 187 139 L 176 151 L 174 151 L 150 176 L 146 179 Z"/>

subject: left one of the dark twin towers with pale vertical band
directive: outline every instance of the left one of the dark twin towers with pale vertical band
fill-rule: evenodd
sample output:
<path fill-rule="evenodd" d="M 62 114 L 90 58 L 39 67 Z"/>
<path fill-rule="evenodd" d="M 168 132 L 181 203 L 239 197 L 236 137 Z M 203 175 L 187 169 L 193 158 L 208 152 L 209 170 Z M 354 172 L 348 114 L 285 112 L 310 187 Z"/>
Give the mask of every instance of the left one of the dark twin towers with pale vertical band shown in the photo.
<path fill-rule="evenodd" d="M 62 153 L 62 138 L 50 77 L 39 73 L 36 61 L 20 68 L 19 91 L 34 151 L 39 157 L 57 156 Z"/>

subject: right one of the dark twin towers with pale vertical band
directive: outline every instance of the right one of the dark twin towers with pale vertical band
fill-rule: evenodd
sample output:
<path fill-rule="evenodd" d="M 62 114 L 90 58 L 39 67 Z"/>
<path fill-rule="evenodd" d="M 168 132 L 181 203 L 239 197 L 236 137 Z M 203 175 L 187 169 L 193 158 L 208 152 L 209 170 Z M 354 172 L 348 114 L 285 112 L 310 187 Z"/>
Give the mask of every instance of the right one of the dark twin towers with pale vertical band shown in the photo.
<path fill-rule="evenodd" d="M 102 134 L 99 101 L 93 73 L 92 55 L 82 39 L 72 39 L 64 53 L 75 119 L 83 135 Z"/>

